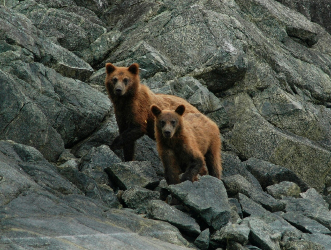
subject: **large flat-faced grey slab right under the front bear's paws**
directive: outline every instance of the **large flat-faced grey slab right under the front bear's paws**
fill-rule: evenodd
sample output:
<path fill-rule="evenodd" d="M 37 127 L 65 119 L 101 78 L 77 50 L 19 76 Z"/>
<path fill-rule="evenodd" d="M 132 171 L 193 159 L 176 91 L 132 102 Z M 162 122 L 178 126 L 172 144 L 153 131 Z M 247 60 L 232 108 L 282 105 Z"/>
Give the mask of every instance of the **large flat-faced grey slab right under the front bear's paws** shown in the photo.
<path fill-rule="evenodd" d="M 191 208 L 213 229 L 219 230 L 230 221 L 231 206 L 223 182 L 210 175 L 200 181 L 169 185 L 170 193 Z"/>

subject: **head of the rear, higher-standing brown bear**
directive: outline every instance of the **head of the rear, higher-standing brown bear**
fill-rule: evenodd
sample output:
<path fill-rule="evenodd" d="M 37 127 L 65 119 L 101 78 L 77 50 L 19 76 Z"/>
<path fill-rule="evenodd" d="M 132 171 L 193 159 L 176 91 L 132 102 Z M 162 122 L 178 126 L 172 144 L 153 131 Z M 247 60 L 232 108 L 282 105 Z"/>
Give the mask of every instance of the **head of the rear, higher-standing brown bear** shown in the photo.
<path fill-rule="evenodd" d="M 106 63 L 106 74 L 105 84 L 111 97 L 133 94 L 140 82 L 137 63 L 129 67 L 116 67 Z"/>

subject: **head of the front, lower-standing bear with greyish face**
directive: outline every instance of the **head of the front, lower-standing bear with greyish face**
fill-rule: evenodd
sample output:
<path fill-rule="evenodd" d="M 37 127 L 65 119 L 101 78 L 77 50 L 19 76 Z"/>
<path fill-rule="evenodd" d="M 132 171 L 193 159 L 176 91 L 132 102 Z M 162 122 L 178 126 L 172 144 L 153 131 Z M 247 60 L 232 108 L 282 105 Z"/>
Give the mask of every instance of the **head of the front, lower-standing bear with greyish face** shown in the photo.
<path fill-rule="evenodd" d="M 152 105 L 151 111 L 155 116 L 156 130 L 162 133 L 164 138 L 172 138 L 176 132 L 179 132 L 182 126 L 182 115 L 185 111 L 184 105 L 179 105 L 175 111 L 161 110 L 158 106 Z"/>

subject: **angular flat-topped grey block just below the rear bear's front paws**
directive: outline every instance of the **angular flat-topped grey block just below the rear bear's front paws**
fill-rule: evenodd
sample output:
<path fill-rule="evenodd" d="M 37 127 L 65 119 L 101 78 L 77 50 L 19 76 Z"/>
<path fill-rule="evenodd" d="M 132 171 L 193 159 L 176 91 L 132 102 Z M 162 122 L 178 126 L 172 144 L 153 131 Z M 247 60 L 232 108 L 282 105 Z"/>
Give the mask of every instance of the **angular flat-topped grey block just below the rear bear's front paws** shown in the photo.
<path fill-rule="evenodd" d="M 121 162 L 110 165 L 105 171 L 121 190 L 134 185 L 154 189 L 160 182 L 150 162 Z"/>

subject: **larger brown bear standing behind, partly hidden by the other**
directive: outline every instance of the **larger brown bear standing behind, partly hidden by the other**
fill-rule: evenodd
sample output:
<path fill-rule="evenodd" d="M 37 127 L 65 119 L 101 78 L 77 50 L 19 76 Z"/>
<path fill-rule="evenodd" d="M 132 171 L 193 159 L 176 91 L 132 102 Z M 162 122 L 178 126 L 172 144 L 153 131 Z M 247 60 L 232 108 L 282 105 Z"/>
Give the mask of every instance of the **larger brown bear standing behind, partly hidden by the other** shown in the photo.
<path fill-rule="evenodd" d="M 186 112 L 200 113 L 184 99 L 165 94 L 155 94 L 140 83 L 139 65 L 116 67 L 106 64 L 105 85 L 114 104 L 119 136 L 114 139 L 112 150 L 123 148 L 124 160 L 134 158 L 135 141 L 143 135 L 155 140 L 154 116 L 150 106 L 156 104 L 161 108 L 175 109 L 179 103 L 186 105 Z"/>

